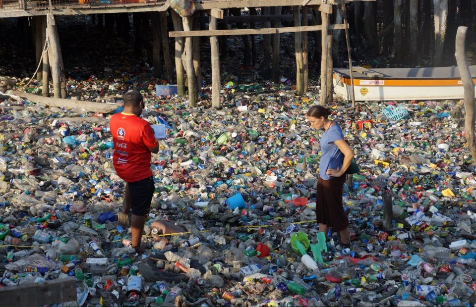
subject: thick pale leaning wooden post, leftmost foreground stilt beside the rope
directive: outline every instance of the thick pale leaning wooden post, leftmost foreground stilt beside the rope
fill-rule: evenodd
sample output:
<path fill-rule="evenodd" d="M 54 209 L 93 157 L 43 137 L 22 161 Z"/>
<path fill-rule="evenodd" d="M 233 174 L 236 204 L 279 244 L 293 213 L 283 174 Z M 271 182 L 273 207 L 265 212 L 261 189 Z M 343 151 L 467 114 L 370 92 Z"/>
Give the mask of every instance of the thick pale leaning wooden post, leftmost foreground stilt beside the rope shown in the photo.
<path fill-rule="evenodd" d="M 53 77 L 53 89 L 55 90 L 55 98 L 66 98 L 66 88 L 63 88 L 65 85 L 63 68 L 63 58 L 61 55 L 60 48 L 60 37 L 58 35 L 58 28 L 55 24 L 55 17 L 53 14 L 47 15 L 48 22 L 48 40 L 50 46 L 48 48 L 48 60 L 50 62 L 51 75 Z M 64 95 L 64 96 L 63 96 Z"/>

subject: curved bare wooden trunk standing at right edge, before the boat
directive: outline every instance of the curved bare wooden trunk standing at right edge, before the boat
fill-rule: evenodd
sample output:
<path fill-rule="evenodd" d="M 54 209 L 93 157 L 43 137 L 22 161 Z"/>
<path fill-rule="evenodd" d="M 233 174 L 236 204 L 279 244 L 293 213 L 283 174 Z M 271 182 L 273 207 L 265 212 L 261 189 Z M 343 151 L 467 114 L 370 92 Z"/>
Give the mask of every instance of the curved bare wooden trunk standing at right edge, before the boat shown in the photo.
<path fill-rule="evenodd" d="M 468 62 L 466 60 L 466 33 L 468 27 L 458 27 L 456 33 L 456 62 L 458 63 L 458 71 L 463 81 L 465 89 L 465 133 L 466 141 L 473 157 L 473 165 L 476 164 L 476 136 L 475 136 L 475 83 L 471 76 Z"/>

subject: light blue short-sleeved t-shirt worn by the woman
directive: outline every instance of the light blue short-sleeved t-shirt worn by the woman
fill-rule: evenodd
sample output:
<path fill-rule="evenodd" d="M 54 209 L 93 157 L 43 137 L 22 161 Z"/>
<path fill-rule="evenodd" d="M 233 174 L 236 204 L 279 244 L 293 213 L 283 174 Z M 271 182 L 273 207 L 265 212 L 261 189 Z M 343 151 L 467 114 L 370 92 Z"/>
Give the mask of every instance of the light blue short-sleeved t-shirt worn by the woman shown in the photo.
<path fill-rule="evenodd" d="M 319 163 L 319 176 L 324 180 L 331 177 L 326 175 L 327 169 L 340 169 L 344 162 L 344 154 L 340 151 L 335 141 L 343 140 L 344 134 L 341 127 L 333 121 L 333 125 L 321 137 L 321 162 Z"/>

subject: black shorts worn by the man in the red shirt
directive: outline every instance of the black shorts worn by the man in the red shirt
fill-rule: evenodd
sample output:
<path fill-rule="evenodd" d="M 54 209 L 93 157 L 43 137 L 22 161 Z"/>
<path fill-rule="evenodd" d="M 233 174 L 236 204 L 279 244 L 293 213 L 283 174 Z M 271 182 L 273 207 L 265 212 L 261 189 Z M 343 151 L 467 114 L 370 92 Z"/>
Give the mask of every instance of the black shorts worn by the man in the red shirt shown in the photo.
<path fill-rule="evenodd" d="M 139 181 L 128 182 L 128 184 L 131 200 L 130 211 L 134 215 L 148 214 L 155 190 L 154 178 L 150 176 Z"/>

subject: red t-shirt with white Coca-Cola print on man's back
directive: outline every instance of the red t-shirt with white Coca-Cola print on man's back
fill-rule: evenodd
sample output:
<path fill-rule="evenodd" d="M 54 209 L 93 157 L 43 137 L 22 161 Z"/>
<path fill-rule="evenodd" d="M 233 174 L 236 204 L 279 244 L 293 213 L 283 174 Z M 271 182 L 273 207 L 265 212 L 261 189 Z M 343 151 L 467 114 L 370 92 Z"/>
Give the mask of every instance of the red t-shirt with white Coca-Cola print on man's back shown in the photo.
<path fill-rule="evenodd" d="M 126 182 L 152 176 L 150 148 L 159 143 L 149 123 L 130 113 L 117 113 L 109 123 L 113 135 L 114 168 Z"/>

